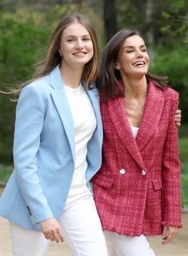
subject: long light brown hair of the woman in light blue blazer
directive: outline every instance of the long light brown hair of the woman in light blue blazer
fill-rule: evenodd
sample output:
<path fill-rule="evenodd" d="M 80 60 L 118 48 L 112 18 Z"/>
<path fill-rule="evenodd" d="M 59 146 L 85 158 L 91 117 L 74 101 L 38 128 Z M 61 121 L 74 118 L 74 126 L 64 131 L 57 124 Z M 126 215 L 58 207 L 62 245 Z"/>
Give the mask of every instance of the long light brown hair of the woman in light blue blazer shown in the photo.
<path fill-rule="evenodd" d="M 78 22 L 86 27 L 86 29 L 90 33 L 90 38 L 94 46 L 93 58 L 91 58 L 90 62 L 86 63 L 82 74 L 82 79 L 85 82 L 86 87 L 90 88 L 90 84 L 96 80 L 99 70 L 99 47 L 97 34 L 94 30 L 94 26 L 91 24 L 89 19 L 82 16 L 81 14 L 70 14 L 63 18 L 62 21 L 58 23 L 58 26 L 56 26 L 54 33 L 52 34 L 50 39 L 50 45 L 46 52 L 46 57 L 42 60 L 42 62 L 38 62 L 37 69 L 35 70 L 32 78 L 22 83 L 22 85 L 18 86 L 18 88 L 16 89 L 10 89 L 7 92 L 1 92 L 5 94 L 14 94 L 15 96 L 17 96 L 18 94 L 20 94 L 22 87 L 26 86 L 27 84 L 33 82 L 38 78 L 42 78 L 43 76 L 49 74 L 52 70 L 54 70 L 54 67 L 60 64 L 62 60 L 62 57 L 59 54 L 59 46 L 62 38 L 62 32 L 66 29 L 67 26 L 74 22 Z"/>

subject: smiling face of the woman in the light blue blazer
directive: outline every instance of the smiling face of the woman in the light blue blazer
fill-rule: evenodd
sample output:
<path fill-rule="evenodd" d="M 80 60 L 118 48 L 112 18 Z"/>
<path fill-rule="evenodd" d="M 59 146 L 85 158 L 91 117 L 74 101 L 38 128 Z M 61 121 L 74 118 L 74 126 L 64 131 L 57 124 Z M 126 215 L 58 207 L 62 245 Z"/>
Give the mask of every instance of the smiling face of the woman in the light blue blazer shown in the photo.
<path fill-rule="evenodd" d="M 62 31 L 59 47 L 62 53 L 62 66 L 84 67 L 94 55 L 90 33 L 85 26 L 74 22 Z"/>

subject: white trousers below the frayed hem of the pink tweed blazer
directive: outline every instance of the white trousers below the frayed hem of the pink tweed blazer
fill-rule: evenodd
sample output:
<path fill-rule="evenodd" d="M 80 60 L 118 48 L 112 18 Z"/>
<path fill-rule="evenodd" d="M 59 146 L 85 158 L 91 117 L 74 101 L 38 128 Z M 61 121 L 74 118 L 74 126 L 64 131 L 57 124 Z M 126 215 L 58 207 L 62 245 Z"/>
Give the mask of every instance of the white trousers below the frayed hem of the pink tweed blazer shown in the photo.
<path fill-rule="evenodd" d="M 154 256 L 154 251 L 144 235 L 130 237 L 105 231 L 111 243 L 110 256 Z"/>

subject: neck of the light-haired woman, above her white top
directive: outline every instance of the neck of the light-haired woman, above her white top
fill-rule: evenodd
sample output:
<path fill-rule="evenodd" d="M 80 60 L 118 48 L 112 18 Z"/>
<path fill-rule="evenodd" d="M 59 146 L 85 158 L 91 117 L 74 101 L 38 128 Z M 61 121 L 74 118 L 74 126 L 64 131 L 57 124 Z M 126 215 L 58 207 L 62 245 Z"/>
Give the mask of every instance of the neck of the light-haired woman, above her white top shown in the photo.
<path fill-rule="evenodd" d="M 76 88 L 79 86 L 80 81 L 82 79 L 83 67 L 80 69 L 79 67 L 74 69 L 70 66 L 62 65 L 60 68 L 60 72 L 62 75 L 63 83 L 66 86 L 72 88 Z"/>

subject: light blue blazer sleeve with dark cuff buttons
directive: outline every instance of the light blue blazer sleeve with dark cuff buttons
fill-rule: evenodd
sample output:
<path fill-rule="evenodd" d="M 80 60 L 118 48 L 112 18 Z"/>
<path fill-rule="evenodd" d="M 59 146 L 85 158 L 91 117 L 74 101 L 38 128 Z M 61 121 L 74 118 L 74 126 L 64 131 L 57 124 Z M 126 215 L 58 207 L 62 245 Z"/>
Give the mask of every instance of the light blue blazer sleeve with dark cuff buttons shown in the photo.
<path fill-rule="evenodd" d="M 37 153 L 45 118 L 42 96 L 34 86 L 22 89 L 16 108 L 14 170 L 32 223 L 53 217 L 38 180 Z"/>

